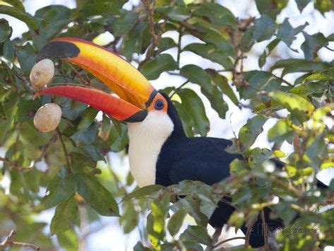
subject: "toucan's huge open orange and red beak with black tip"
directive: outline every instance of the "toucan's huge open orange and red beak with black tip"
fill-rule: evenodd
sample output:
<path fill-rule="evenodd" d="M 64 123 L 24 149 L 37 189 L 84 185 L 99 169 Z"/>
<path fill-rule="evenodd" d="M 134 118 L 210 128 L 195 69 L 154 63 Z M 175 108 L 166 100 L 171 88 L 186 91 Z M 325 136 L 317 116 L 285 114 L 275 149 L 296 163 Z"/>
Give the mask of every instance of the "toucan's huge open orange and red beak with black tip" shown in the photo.
<path fill-rule="evenodd" d="M 139 122 L 147 115 L 157 91 L 131 64 L 117 54 L 85 40 L 58 38 L 45 45 L 37 61 L 56 57 L 68 59 L 100 79 L 119 98 L 91 88 L 54 86 L 38 95 L 61 95 L 86 103 L 124 122 Z"/>

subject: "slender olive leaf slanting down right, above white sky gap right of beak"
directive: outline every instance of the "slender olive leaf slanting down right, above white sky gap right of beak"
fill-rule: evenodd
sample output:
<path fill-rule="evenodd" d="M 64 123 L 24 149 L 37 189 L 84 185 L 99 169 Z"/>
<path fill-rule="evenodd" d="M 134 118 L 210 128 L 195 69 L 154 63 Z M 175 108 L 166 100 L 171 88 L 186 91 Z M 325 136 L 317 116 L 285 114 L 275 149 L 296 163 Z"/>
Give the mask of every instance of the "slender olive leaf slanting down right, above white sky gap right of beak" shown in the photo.
<path fill-rule="evenodd" d="M 224 66 L 225 69 L 231 69 L 233 67 L 229 55 L 225 54 L 225 52 L 223 52 L 221 49 L 215 47 L 215 45 L 209 43 L 208 44 L 193 43 L 184 47 L 183 50 L 184 51 L 189 50 L 193 53 L 200 55 L 201 57 L 204 57 L 205 59 L 211 60 L 212 62 L 222 64 L 222 66 Z"/>

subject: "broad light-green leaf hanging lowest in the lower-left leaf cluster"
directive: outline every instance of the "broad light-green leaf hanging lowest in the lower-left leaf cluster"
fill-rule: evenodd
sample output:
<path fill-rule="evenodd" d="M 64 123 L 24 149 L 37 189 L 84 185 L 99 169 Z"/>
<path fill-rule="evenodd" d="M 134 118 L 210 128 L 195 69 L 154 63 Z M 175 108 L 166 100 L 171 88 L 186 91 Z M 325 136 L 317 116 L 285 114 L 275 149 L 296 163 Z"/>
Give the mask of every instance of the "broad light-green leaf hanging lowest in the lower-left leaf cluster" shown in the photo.
<path fill-rule="evenodd" d="M 51 234 L 63 233 L 73 226 L 78 215 L 76 200 L 71 196 L 68 200 L 56 207 L 54 217 L 51 221 Z"/>

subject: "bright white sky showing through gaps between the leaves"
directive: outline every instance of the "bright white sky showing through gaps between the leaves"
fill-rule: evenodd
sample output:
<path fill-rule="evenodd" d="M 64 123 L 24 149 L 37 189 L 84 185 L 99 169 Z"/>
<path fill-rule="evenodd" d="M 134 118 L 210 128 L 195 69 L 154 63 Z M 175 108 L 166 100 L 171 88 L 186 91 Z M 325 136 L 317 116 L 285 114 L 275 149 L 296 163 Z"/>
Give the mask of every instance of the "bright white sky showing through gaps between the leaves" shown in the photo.
<path fill-rule="evenodd" d="M 234 16 L 238 18 L 249 18 L 250 16 L 258 16 L 258 11 L 256 9 L 256 5 L 252 0 L 218 0 L 216 1 L 219 4 L 229 8 L 229 10 L 234 13 Z M 138 0 L 131 0 L 130 3 L 126 4 L 125 8 L 131 8 L 132 4 L 137 4 Z M 32 15 L 35 14 L 37 9 L 42 8 L 44 6 L 48 6 L 50 4 L 61 4 L 64 6 L 68 6 L 68 8 L 75 8 L 76 1 L 74 0 L 25 0 L 24 5 L 25 9 Z M 0 18 L 4 15 L 0 15 Z M 25 31 L 28 31 L 28 27 L 25 23 L 18 21 L 15 18 L 11 18 L 9 16 L 4 16 L 13 28 L 13 37 L 18 37 Z M 299 12 L 297 5 L 294 1 L 290 1 L 287 8 L 285 8 L 280 16 L 278 16 L 278 23 L 282 23 L 285 18 L 290 18 L 289 21 L 292 23 L 293 27 L 298 25 L 303 25 L 306 21 L 309 25 L 306 27 L 306 32 L 309 34 L 314 34 L 321 32 L 325 36 L 334 33 L 334 13 L 333 11 L 330 13 L 326 13 L 325 17 L 321 15 L 318 11 L 314 11 L 313 5 L 309 4 L 304 8 L 302 13 Z M 178 34 L 177 32 L 169 32 L 165 33 L 164 36 L 172 37 L 174 40 L 177 40 Z M 187 44 L 194 42 L 197 40 L 196 37 L 192 37 L 191 35 L 184 35 L 181 40 L 181 47 L 186 46 Z M 304 36 L 302 34 L 297 35 L 297 39 L 294 40 L 292 44 L 292 48 L 299 48 L 300 45 L 304 42 Z M 249 71 L 258 68 L 258 56 L 263 52 L 263 49 L 268 44 L 268 41 L 256 43 L 253 49 L 251 50 L 251 54 L 247 55 L 247 59 L 244 60 L 244 70 Z M 329 47 L 334 49 L 334 43 L 330 43 Z M 169 49 L 167 51 L 169 54 L 172 54 L 173 57 L 176 57 L 177 49 Z M 278 45 L 278 49 L 276 52 L 277 55 L 283 58 L 287 57 L 296 57 L 302 58 L 304 57 L 303 52 L 292 52 L 292 50 L 288 49 L 287 46 L 280 42 Z M 321 49 L 319 51 L 319 56 L 321 59 L 325 61 L 331 61 L 334 59 L 334 52 L 331 52 L 328 49 Z M 263 69 L 268 69 L 275 63 L 273 58 L 268 57 L 266 65 Z M 205 68 L 213 68 L 220 69 L 221 66 L 217 66 L 217 64 L 208 61 L 207 59 L 203 59 L 202 57 L 193 54 L 192 52 L 182 52 L 181 53 L 181 66 L 186 64 L 196 64 L 198 66 Z M 292 80 L 295 78 L 295 75 L 287 75 L 287 80 Z M 155 81 L 151 81 L 155 88 L 164 88 L 165 86 L 179 86 L 181 83 L 184 83 L 184 78 L 179 76 L 170 76 L 169 74 L 162 74 L 160 78 Z M 196 91 L 199 91 L 198 86 L 193 85 L 193 88 Z M 200 94 L 201 95 L 201 94 Z M 229 111 L 227 112 L 227 119 L 220 119 L 218 117 L 217 112 L 215 112 L 211 107 L 210 103 L 206 98 L 201 95 L 203 98 L 203 102 L 205 104 L 205 109 L 207 116 L 210 120 L 210 132 L 208 136 L 222 137 L 222 138 L 232 138 L 233 131 L 237 134 L 239 129 L 246 123 L 246 120 L 250 117 L 253 117 L 254 114 L 250 112 L 249 109 L 239 110 L 237 106 L 235 106 L 229 98 L 225 96 L 225 100 L 229 105 Z M 242 100 L 241 100 L 242 102 Z M 270 147 L 270 144 L 267 140 L 267 133 L 270 127 L 273 127 L 276 119 L 269 119 L 268 122 L 264 125 L 263 133 L 258 136 L 256 143 L 254 146 L 260 147 Z M 233 131 L 232 131 L 233 130 Z M 283 144 L 282 151 L 285 153 L 290 153 L 292 151 L 292 146 L 289 144 Z M 117 153 L 111 153 L 113 168 L 120 175 L 126 174 L 129 170 L 129 162 L 127 158 L 121 159 Z M 334 168 L 333 168 L 334 169 Z M 333 170 L 332 170 L 333 171 Z M 333 177 L 334 172 L 331 172 L 330 176 Z M 328 174 L 324 175 L 328 178 Z M 327 179 L 328 180 L 328 179 Z M 47 211 L 44 215 L 42 215 L 43 221 L 51 221 L 53 216 L 53 211 Z M 139 235 L 137 230 L 133 230 L 133 233 L 129 235 L 124 235 L 123 231 L 119 228 L 118 219 L 103 217 L 102 220 L 104 223 L 107 223 L 107 226 L 101 228 L 97 232 L 90 235 L 88 238 L 88 250 L 132 250 L 132 247 L 136 245 L 136 242 L 139 240 Z M 94 226 L 92 228 L 100 226 Z"/>

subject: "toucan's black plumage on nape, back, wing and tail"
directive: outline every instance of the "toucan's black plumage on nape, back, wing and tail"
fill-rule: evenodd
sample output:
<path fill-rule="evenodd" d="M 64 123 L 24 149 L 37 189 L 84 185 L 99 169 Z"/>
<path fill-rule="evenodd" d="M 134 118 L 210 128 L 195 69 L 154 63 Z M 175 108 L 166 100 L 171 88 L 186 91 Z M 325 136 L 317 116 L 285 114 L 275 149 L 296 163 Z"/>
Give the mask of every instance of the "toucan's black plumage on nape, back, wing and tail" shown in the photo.
<path fill-rule="evenodd" d="M 239 154 L 225 151 L 232 141 L 212 137 L 187 137 L 172 101 L 164 93 L 162 95 L 167 100 L 167 113 L 174 123 L 174 131 L 163 144 L 158 156 L 155 183 L 169 186 L 182 180 L 198 180 L 207 185 L 213 185 L 229 177 L 229 164 L 235 158 L 242 158 Z M 277 163 L 281 165 L 279 161 Z M 224 199 L 231 201 L 228 197 Z M 209 220 L 210 225 L 222 227 L 234 210 L 230 204 L 219 202 Z M 269 208 L 266 208 L 264 212 L 270 230 L 283 226 L 282 220 L 270 218 Z M 264 245 L 262 227 L 259 217 L 249 238 L 252 247 Z M 247 227 L 242 226 L 241 230 L 246 234 Z"/>

